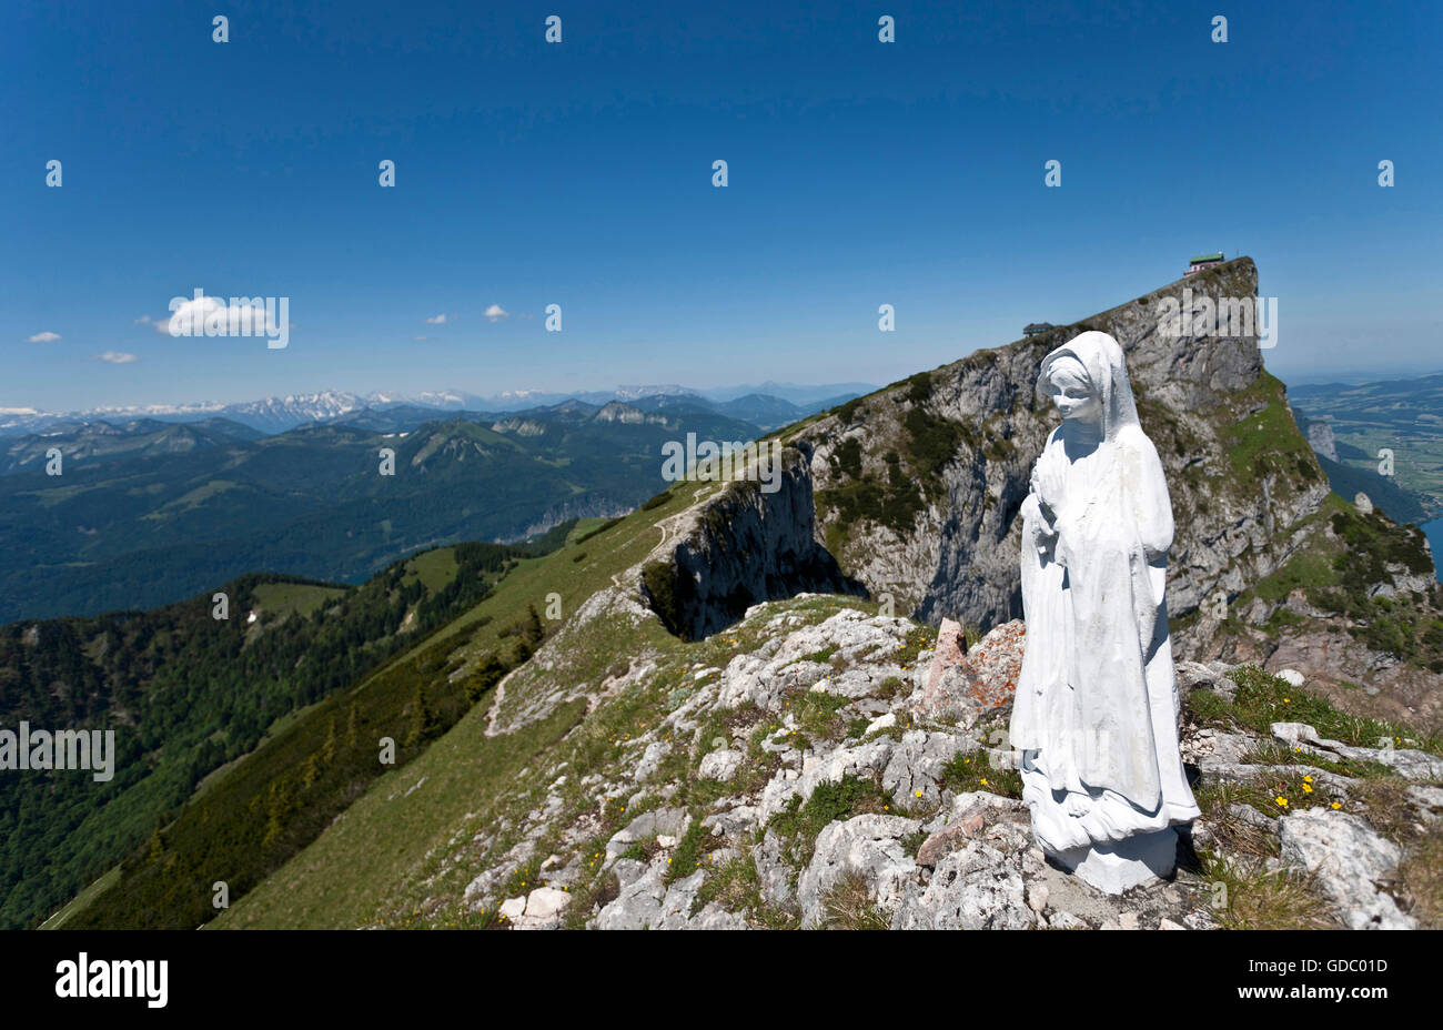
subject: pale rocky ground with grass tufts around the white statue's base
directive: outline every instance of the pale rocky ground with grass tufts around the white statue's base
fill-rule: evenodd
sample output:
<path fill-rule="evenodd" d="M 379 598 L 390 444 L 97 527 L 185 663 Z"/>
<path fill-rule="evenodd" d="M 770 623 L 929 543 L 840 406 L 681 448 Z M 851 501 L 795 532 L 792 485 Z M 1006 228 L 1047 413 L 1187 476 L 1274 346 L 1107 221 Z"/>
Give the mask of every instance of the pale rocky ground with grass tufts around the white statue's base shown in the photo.
<path fill-rule="evenodd" d="M 1203 819 L 1108 897 L 1033 844 L 1007 747 L 1020 622 L 971 646 L 850 597 L 758 604 L 612 669 L 478 814 L 431 916 L 511 929 L 1215 929 L 1439 923 L 1443 759 L 1303 677 L 1179 665 Z M 550 645 L 548 645 L 550 646 Z M 597 700 L 599 698 L 599 700 Z M 521 808 L 521 804 L 525 808 Z M 475 829 L 475 832 L 472 832 Z"/>

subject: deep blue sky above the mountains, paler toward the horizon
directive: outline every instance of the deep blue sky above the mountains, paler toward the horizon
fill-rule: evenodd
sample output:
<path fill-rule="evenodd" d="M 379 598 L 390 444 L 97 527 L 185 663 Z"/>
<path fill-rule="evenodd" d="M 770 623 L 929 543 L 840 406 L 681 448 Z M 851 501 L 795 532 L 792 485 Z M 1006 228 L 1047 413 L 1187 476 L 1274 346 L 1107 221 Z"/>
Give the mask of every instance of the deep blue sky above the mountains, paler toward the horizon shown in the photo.
<path fill-rule="evenodd" d="M 880 384 L 1211 250 L 1284 381 L 1443 368 L 1443 7 L 938 7 L 7 3 L 0 407 Z M 196 287 L 290 345 L 137 323 Z"/>

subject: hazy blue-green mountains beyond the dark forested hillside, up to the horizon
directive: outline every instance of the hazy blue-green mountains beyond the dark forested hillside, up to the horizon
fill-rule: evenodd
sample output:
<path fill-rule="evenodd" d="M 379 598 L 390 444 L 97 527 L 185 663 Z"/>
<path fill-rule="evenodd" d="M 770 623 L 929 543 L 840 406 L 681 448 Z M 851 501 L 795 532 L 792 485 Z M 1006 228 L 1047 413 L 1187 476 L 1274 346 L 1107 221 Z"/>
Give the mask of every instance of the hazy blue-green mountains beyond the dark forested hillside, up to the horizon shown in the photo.
<path fill-rule="evenodd" d="M 322 394 L 55 421 L 0 439 L 0 623 L 165 604 L 258 570 L 359 581 L 420 548 L 616 516 L 665 486 L 667 441 L 753 440 L 815 410 L 765 394 L 518 411 Z"/>

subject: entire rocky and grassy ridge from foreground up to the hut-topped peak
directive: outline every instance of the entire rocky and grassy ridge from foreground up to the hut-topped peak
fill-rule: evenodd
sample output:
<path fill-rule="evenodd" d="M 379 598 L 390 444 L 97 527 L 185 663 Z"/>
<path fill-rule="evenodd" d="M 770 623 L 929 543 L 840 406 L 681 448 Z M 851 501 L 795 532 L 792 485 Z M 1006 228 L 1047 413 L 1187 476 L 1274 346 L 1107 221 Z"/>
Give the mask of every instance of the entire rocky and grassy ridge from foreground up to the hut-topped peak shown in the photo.
<path fill-rule="evenodd" d="M 1251 261 L 1229 265 L 1188 284 L 1255 293 Z M 556 599 L 563 617 L 543 622 L 534 652 L 209 925 L 1436 925 L 1437 857 L 1387 816 L 1423 825 L 1443 809 L 1427 736 L 1443 591 L 1418 571 L 1426 541 L 1329 492 L 1255 339 L 1216 356 L 1147 325 L 1144 301 L 1179 286 L 778 431 L 775 492 L 752 466 L 672 483 L 525 564 L 437 633 L 427 668 L 455 695 L 495 668 L 498 638 L 468 626 Z M 1084 326 L 1120 330 L 1143 424 L 1179 466 L 1173 630 L 1205 799 L 1179 883 L 1111 909 L 1069 896 L 1030 854 L 996 746 L 1025 632 L 1006 610 L 1009 538 L 1048 418 L 1036 364 Z M 967 538 L 964 525 L 986 527 L 991 551 L 957 577 L 968 589 L 937 590 L 957 558 L 918 538 Z M 975 589 L 988 577 L 994 590 Z M 952 630 L 965 668 L 939 659 L 947 615 L 965 616 Z M 1349 672 L 1352 690 L 1336 674 L 1351 658 L 1371 666 Z M 405 716 L 368 729 L 405 733 Z M 1387 762 L 1403 765 L 1378 772 Z M 255 796 L 267 779 L 299 789 L 280 766 L 241 769 Z M 1299 811 L 1274 804 L 1280 789 Z M 201 812 L 134 857 L 137 874 L 159 884 L 170 855 L 193 861 Z M 1322 876 L 1329 834 L 1385 861 L 1352 886 Z M 1322 894 L 1290 886 L 1312 874 Z M 1394 876 L 1418 893 L 1394 897 Z M 1216 881 L 1237 899 L 1224 910 L 1189 900 Z M 205 910 L 203 890 L 176 890 L 190 892 L 185 912 Z M 121 899 L 113 887 L 82 917 L 124 919 Z"/>

